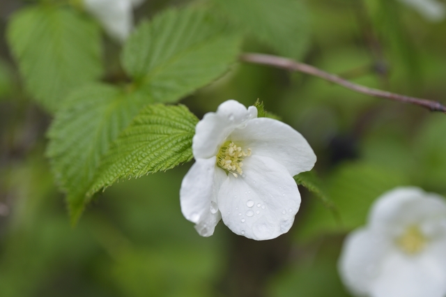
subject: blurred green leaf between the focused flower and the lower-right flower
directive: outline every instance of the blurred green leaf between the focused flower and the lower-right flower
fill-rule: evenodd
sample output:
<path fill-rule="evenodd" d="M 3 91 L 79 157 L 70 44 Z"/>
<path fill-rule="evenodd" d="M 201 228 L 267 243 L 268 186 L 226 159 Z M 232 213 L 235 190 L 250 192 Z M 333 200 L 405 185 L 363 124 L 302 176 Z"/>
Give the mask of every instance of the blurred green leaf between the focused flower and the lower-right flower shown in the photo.
<path fill-rule="evenodd" d="M 310 201 L 298 237 L 305 241 L 322 233 L 350 231 L 360 227 L 365 224 L 370 206 L 376 198 L 387 190 L 409 184 L 407 175 L 391 167 L 368 162 L 344 163 L 332 173 L 327 188 L 342 224 L 322 204 Z"/>

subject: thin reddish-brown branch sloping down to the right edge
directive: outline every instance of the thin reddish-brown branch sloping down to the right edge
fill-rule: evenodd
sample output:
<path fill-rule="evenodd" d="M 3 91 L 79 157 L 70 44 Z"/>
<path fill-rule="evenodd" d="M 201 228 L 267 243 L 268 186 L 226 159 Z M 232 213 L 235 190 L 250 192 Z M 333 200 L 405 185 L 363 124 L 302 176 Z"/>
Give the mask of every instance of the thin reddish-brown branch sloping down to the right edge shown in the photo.
<path fill-rule="evenodd" d="M 362 86 L 360 84 L 355 84 L 353 82 L 349 82 L 346 79 L 343 79 L 337 75 L 332 75 L 330 73 L 326 73 L 323 70 L 320 70 L 314 66 L 310 66 L 305 63 L 300 63 L 291 59 L 284 58 L 282 56 L 272 56 L 269 54 L 254 54 L 247 53 L 242 54 L 240 56 L 240 60 L 247 63 L 268 65 L 277 68 L 282 68 L 286 70 L 299 71 L 301 73 L 307 73 L 309 75 L 314 75 L 317 77 L 321 77 L 322 79 L 328 80 L 328 82 L 333 82 L 334 84 L 339 84 L 344 86 L 347 89 L 351 89 L 358 93 L 363 93 L 369 96 L 385 98 L 389 100 L 404 102 L 413 105 L 419 105 L 421 107 L 427 108 L 431 110 L 431 112 L 443 112 L 446 114 L 446 106 L 442 105 L 440 102 L 414 98 L 409 96 L 399 95 L 397 93 L 390 93 L 387 91 L 380 91 L 378 89 L 371 89 L 367 86 Z"/>

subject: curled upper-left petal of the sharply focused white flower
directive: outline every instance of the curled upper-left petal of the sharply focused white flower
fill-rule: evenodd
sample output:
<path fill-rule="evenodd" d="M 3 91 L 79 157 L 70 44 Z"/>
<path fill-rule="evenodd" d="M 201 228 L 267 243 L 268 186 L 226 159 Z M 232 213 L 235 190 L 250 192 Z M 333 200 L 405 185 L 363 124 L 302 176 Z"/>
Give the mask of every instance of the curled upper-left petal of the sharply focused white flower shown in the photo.
<path fill-rule="evenodd" d="M 223 102 L 217 112 L 208 112 L 197 123 L 192 140 L 194 157 L 207 159 L 216 155 L 226 137 L 240 125 L 257 116 L 256 107 L 246 107 L 236 100 Z"/>

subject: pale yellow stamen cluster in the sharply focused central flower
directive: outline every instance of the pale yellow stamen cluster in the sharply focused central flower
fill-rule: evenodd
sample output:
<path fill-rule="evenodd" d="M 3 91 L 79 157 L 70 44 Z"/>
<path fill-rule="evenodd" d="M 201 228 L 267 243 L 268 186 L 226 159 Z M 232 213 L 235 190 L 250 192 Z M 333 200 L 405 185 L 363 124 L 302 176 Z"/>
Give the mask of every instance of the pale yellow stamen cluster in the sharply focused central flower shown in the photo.
<path fill-rule="evenodd" d="M 239 174 L 243 174 L 242 160 L 250 155 L 251 148 L 247 148 L 244 151 L 241 146 L 237 146 L 233 142 L 228 141 L 220 147 L 220 151 L 217 153 L 217 165 L 237 177 Z"/>

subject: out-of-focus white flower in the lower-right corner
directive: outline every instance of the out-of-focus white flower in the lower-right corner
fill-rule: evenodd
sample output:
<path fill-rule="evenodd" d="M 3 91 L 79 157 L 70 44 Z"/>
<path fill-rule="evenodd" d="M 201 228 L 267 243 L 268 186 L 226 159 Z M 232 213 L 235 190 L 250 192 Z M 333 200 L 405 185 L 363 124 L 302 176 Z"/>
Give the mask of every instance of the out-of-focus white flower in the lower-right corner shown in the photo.
<path fill-rule="evenodd" d="M 446 296 L 446 201 L 419 188 L 381 196 L 348 235 L 339 273 L 356 296 Z"/>

